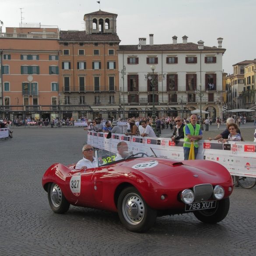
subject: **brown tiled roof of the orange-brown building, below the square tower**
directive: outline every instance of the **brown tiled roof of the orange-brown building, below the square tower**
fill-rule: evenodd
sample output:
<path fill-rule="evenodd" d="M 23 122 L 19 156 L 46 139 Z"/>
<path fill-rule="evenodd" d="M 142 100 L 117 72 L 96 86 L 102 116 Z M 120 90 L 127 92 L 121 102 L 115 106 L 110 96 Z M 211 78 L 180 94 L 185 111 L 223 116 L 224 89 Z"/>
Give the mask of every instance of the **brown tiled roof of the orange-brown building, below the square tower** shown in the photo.
<path fill-rule="evenodd" d="M 121 42 L 116 34 L 86 34 L 85 31 L 60 31 L 60 42 L 61 41 Z"/>

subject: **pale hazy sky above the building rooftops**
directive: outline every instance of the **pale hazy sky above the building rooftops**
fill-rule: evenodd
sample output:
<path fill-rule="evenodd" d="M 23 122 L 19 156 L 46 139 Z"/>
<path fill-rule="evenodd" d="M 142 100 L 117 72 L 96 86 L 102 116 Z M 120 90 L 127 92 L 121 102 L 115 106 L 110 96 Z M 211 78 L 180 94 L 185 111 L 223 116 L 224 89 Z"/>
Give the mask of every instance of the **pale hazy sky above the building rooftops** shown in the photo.
<path fill-rule="evenodd" d="M 154 34 L 154 44 L 172 43 L 172 36 L 188 36 L 188 42 L 227 49 L 223 69 L 256 59 L 256 0 L 1 0 L 0 20 L 5 27 L 23 23 L 57 25 L 61 30 L 84 30 L 84 14 L 98 11 L 118 14 L 121 45 L 138 44 L 139 37 Z M 20 9 L 23 8 L 23 9 Z M 0 47 L 1 48 L 1 47 Z"/>

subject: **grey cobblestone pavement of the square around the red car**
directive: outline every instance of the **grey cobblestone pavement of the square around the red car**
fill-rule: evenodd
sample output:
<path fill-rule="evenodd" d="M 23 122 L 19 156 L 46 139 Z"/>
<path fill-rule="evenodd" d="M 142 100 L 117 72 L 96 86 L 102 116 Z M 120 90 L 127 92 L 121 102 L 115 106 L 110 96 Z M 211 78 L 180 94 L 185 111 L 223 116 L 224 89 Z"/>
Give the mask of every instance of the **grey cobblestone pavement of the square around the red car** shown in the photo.
<path fill-rule="evenodd" d="M 244 137 L 247 130 L 251 138 L 253 126 L 241 128 Z M 131 233 L 116 213 L 71 206 L 67 214 L 54 214 L 49 207 L 42 175 L 54 162 L 71 164 L 81 158 L 82 128 L 18 127 L 13 135 L 0 141 L 1 256 L 256 254 L 256 187 L 235 188 L 228 216 L 219 224 L 206 225 L 184 214 L 158 217 L 147 233 Z"/>

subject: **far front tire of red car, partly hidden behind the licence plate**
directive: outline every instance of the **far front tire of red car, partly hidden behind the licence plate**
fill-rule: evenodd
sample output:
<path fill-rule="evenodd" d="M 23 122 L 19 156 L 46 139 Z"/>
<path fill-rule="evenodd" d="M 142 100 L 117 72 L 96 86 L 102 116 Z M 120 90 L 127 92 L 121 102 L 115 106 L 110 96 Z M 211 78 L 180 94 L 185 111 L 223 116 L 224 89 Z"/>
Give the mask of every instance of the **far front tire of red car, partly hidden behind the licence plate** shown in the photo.
<path fill-rule="evenodd" d="M 229 197 L 216 202 L 216 208 L 208 210 L 196 210 L 194 215 L 204 223 L 215 224 L 222 221 L 228 214 Z"/>

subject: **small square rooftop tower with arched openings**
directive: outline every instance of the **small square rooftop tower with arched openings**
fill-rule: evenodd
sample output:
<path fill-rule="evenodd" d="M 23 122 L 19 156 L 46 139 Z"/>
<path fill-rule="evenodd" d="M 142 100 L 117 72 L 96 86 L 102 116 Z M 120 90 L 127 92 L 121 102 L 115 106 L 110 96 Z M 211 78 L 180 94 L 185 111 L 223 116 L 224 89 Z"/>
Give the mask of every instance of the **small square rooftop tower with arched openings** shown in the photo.
<path fill-rule="evenodd" d="M 116 34 L 116 17 L 101 10 L 84 14 L 86 34 Z"/>

